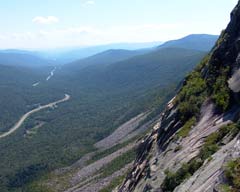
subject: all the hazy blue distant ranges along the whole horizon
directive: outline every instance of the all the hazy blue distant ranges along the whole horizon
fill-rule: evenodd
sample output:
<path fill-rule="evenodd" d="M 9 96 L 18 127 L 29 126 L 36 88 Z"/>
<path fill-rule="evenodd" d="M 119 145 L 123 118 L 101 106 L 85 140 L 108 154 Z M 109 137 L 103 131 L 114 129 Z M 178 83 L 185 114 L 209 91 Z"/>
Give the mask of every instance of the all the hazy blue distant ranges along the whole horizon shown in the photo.
<path fill-rule="evenodd" d="M 199 51 L 209 51 L 216 42 L 218 36 L 207 34 L 189 35 L 182 39 L 162 42 L 149 43 L 118 43 L 109 45 L 99 45 L 80 48 L 64 48 L 52 50 L 0 50 L 0 64 L 4 65 L 20 65 L 20 66 L 46 66 L 60 65 L 66 63 L 76 63 L 77 60 L 86 62 L 87 57 L 91 58 L 91 63 L 95 59 L 109 59 L 110 62 L 117 62 L 150 52 L 154 49 L 162 48 L 184 48 L 197 49 Z M 115 58 L 116 57 L 116 58 Z M 103 59 L 104 60 L 104 59 Z M 89 61 L 89 60 L 87 60 Z"/>

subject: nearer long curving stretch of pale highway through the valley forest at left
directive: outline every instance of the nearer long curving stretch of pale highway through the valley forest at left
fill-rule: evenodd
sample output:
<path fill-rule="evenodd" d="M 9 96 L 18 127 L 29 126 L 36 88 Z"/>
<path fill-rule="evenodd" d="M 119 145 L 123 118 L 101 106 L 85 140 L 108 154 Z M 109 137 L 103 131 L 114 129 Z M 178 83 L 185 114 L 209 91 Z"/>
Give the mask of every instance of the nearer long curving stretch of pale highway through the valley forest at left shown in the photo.
<path fill-rule="evenodd" d="M 24 121 L 30 116 L 32 115 L 33 113 L 36 113 L 40 110 L 43 110 L 43 109 L 46 109 L 46 108 L 49 108 L 49 107 L 54 107 L 55 105 L 59 104 L 59 103 L 62 103 L 62 102 L 65 102 L 67 100 L 70 99 L 70 95 L 68 94 L 65 94 L 64 98 L 63 99 L 60 99 L 60 100 L 57 100 L 55 102 L 52 102 L 52 103 L 49 103 L 47 105 L 43 105 L 43 106 L 39 106 L 27 113 L 25 113 L 19 120 L 18 122 L 12 127 L 9 129 L 9 131 L 3 133 L 3 134 L 0 134 L 0 138 L 4 138 L 4 137 L 7 137 L 9 135 L 11 135 L 12 133 L 14 133 L 18 128 L 20 128 L 22 126 L 22 124 L 24 123 Z"/>

